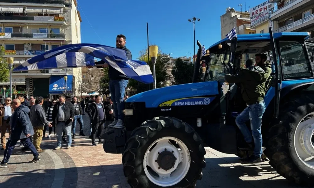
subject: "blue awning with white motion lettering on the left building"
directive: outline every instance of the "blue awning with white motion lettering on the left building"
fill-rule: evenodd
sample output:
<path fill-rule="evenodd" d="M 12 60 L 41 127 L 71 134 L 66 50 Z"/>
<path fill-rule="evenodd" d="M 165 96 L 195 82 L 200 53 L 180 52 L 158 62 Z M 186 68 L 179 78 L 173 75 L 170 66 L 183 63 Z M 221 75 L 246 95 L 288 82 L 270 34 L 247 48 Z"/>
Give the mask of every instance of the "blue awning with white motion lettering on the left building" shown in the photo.
<path fill-rule="evenodd" d="M 67 84 L 64 81 L 64 76 L 51 76 L 49 84 L 49 93 L 51 94 L 65 94 L 67 86 L 68 92 L 72 91 L 73 75 L 68 75 Z"/>

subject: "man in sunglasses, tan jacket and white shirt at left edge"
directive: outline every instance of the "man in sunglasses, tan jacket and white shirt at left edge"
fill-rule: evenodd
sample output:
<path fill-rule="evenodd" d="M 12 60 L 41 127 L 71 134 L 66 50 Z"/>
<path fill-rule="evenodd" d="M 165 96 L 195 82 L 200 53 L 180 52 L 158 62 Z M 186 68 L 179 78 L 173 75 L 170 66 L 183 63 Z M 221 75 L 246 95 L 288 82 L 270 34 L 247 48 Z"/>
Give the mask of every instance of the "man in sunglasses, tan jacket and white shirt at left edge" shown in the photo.
<path fill-rule="evenodd" d="M 4 150 L 6 147 L 5 133 L 7 132 L 7 129 L 9 131 L 9 135 L 11 135 L 11 128 L 10 128 L 10 124 L 8 120 L 9 120 L 9 117 L 11 117 L 11 115 L 13 114 L 14 109 L 11 107 L 10 103 L 11 103 L 11 98 L 7 97 L 4 100 L 4 104 L 0 105 L 0 126 L 1 126 L 1 145 L 2 145 L 1 150 Z"/>

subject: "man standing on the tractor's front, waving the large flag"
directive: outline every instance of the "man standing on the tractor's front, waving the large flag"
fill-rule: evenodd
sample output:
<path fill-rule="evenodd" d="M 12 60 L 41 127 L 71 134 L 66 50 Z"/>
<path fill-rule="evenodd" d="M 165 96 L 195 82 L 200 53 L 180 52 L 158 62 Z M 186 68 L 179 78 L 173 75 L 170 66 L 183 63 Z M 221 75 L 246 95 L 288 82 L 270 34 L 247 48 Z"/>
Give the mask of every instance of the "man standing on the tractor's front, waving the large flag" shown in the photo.
<path fill-rule="evenodd" d="M 126 37 L 123 34 L 119 34 L 116 37 L 116 47 L 122 50 L 125 50 L 127 53 L 127 59 L 131 60 L 132 59 L 132 54 L 129 49 L 125 46 L 126 44 Z M 95 64 L 103 64 L 103 67 L 108 67 L 109 65 L 103 61 L 100 60 L 96 62 Z M 114 111 L 116 114 L 116 117 L 108 127 L 114 127 L 114 128 L 122 128 L 123 123 L 124 123 L 124 114 L 123 114 L 123 109 L 124 109 L 124 93 L 125 89 L 127 88 L 127 84 L 129 82 L 129 77 L 125 76 L 112 66 L 109 66 L 109 71 L 108 71 L 108 76 L 109 76 L 109 91 L 111 93 L 111 100 L 114 105 Z"/>

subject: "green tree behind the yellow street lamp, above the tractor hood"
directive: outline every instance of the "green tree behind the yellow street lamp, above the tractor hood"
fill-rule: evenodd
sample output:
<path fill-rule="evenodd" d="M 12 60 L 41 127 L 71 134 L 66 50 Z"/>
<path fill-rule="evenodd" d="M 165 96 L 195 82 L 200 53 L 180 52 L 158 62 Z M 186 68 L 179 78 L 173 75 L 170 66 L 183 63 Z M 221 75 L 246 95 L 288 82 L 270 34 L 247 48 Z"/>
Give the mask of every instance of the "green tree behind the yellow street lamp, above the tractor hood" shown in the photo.
<path fill-rule="evenodd" d="M 153 74 L 153 64 L 151 59 L 148 59 L 148 51 L 147 48 L 139 52 L 138 60 L 145 61 Z M 167 66 L 166 63 L 169 61 L 169 58 L 166 54 L 162 53 L 161 50 L 158 50 L 158 56 L 155 64 L 155 71 L 156 71 L 156 88 L 164 87 L 166 82 L 170 80 L 170 76 L 167 73 Z M 148 91 L 149 88 L 153 89 L 152 84 L 144 84 L 142 82 L 138 82 L 136 80 L 130 79 L 128 87 L 135 89 L 138 93 L 143 91 Z"/>

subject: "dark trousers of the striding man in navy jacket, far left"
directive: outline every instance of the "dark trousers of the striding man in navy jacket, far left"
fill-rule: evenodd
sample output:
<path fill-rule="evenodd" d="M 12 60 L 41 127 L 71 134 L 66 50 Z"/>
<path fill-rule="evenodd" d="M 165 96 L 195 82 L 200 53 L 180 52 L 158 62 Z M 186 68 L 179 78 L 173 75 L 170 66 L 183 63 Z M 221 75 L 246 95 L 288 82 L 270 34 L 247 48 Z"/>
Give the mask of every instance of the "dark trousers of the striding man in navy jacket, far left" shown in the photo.
<path fill-rule="evenodd" d="M 10 158 L 10 156 L 11 156 L 11 154 L 12 154 L 12 151 L 13 151 L 13 149 L 14 149 L 14 147 L 15 147 L 15 144 L 16 144 L 18 141 L 19 141 L 19 139 L 13 139 L 13 140 L 9 139 L 9 140 L 8 140 L 7 146 L 6 146 L 6 148 L 5 148 L 5 150 L 4 150 L 4 154 L 3 154 L 3 161 L 4 161 L 4 163 L 8 163 L 9 158 Z M 21 142 L 22 142 L 25 146 L 27 146 L 28 148 L 30 148 L 30 151 L 32 152 L 32 154 L 34 155 L 34 157 L 38 157 L 39 154 L 38 154 L 37 150 L 35 149 L 34 144 L 30 141 L 30 138 L 23 138 L 23 139 L 21 139 Z"/>

